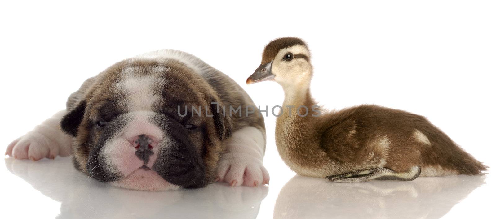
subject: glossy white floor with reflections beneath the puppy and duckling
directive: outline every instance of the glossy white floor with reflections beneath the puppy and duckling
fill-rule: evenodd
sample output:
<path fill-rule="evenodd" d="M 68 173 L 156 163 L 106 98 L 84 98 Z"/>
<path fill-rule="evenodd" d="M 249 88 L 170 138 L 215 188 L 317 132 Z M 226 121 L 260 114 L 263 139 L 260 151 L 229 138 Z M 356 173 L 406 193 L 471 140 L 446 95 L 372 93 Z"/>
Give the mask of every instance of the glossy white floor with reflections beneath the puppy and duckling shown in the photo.
<path fill-rule="evenodd" d="M 491 174 L 366 183 L 294 176 L 285 184 L 268 187 L 212 184 L 196 190 L 146 192 L 89 179 L 72 167 L 70 158 L 39 162 L 8 158 L 0 168 L 2 212 L 7 218 L 426 219 L 494 215 Z M 277 198 L 264 200 L 269 191 Z"/>

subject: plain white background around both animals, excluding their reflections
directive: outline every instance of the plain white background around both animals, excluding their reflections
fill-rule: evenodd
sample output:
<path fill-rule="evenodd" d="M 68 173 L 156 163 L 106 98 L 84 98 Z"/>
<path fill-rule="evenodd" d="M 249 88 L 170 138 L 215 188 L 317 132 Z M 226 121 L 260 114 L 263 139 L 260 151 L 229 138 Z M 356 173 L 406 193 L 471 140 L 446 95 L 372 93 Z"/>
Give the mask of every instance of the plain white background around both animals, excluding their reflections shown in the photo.
<path fill-rule="evenodd" d="M 494 1 L 181 2 L 2 1 L 0 148 L 62 110 L 86 78 L 154 50 L 196 55 L 232 77 L 255 104 L 281 105 L 278 84 L 245 81 L 267 43 L 296 36 L 310 47 L 311 91 L 321 106 L 378 104 L 421 114 L 478 160 L 496 164 Z M 265 123 L 271 181 L 259 217 L 272 216 L 279 190 L 294 175 L 277 154 L 275 117 L 269 113 Z M 470 217 L 492 202 L 489 176 L 445 216 Z M 4 192 L 15 195 L 16 188 Z"/>

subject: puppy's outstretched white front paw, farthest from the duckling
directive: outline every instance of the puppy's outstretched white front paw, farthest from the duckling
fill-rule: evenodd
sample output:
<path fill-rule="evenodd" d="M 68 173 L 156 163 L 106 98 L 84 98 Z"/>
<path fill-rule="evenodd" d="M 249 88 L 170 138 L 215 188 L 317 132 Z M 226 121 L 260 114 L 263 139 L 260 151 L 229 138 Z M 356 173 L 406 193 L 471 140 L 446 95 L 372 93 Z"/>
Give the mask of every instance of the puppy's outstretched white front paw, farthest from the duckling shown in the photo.
<path fill-rule="evenodd" d="M 52 134 L 33 130 L 14 140 L 7 147 L 5 155 L 14 159 L 38 161 L 42 158 L 55 159 L 57 155 L 69 155 L 71 137 L 61 133 Z"/>

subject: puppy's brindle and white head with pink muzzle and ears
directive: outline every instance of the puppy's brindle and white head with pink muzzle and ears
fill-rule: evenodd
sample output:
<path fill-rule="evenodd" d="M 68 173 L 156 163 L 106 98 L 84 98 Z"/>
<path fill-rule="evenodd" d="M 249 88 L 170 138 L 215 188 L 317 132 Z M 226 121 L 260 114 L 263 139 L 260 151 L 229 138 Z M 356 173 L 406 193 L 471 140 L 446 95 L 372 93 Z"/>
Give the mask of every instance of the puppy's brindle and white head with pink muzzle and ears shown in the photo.
<path fill-rule="evenodd" d="M 182 62 L 127 59 L 96 77 L 61 127 L 76 137 L 74 164 L 89 177 L 131 189 L 199 188 L 213 180 L 231 132 L 222 110 Z"/>

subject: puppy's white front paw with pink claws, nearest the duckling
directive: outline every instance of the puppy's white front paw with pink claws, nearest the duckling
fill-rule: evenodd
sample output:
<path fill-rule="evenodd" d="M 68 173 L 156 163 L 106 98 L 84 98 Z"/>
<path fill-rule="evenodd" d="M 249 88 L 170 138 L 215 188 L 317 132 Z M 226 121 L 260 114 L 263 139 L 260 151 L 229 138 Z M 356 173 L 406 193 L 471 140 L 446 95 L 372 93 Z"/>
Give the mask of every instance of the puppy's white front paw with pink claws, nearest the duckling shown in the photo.
<path fill-rule="evenodd" d="M 260 159 L 245 153 L 227 153 L 219 161 L 216 181 L 231 186 L 269 184 L 269 173 Z"/>

